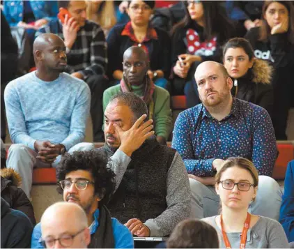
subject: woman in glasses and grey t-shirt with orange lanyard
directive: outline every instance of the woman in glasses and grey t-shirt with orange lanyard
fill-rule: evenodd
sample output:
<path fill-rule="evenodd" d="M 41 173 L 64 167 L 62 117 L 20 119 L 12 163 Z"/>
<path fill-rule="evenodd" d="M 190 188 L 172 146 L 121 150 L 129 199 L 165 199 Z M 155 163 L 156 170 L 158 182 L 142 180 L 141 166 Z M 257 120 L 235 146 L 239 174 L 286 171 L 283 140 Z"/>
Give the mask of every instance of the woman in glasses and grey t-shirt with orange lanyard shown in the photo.
<path fill-rule="evenodd" d="M 248 212 L 257 189 L 258 172 L 249 160 L 228 158 L 220 166 L 215 175 L 215 191 L 222 211 L 219 216 L 203 219 L 217 230 L 220 248 L 288 248 L 279 222 Z"/>

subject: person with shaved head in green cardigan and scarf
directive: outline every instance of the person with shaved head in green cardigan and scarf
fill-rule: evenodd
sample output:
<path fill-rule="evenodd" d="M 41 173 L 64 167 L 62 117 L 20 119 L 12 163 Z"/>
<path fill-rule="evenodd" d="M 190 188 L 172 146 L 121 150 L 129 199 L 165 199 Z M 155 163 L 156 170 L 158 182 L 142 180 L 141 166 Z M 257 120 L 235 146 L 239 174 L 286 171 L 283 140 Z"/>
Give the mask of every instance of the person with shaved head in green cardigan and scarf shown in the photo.
<path fill-rule="evenodd" d="M 121 84 L 111 86 L 103 94 L 103 110 L 109 100 L 118 92 L 134 92 L 148 107 L 149 119 L 153 119 L 157 141 L 167 144 L 171 133 L 172 118 L 168 91 L 155 86 L 147 74 L 148 56 L 141 47 L 129 47 L 123 54 L 123 80 Z"/>

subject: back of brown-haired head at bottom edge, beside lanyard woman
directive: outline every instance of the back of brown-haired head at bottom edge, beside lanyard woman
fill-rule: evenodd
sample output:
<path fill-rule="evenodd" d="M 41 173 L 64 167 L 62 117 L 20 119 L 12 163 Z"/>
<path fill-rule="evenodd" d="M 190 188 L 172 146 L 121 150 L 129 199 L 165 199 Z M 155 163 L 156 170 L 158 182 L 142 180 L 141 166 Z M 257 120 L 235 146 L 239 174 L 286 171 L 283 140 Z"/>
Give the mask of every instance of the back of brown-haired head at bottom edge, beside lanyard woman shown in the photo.
<path fill-rule="evenodd" d="M 171 233 L 167 248 L 219 248 L 217 231 L 201 220 L 183 220 Z"/>

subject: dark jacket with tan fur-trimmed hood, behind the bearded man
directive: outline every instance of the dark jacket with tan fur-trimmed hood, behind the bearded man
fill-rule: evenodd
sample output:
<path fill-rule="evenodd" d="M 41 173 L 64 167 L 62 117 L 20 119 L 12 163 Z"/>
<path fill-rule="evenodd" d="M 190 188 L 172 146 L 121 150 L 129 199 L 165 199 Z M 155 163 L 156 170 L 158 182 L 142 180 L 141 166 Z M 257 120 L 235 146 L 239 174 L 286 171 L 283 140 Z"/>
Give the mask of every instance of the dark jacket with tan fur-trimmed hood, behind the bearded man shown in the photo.
<path fill-rule="evenodd" d="M 257 59 L 254 61 L 253 68 L 249 69 L 247 74 L 237 80 L 238 86 L 235 86 L 235 80 L 231 93 L 235 98 L 246 100 L 259 105 L 268 111 L 272 116 L 274 96 L 270 80 L 272 77 L 272 67 L 267 61 Z"/>

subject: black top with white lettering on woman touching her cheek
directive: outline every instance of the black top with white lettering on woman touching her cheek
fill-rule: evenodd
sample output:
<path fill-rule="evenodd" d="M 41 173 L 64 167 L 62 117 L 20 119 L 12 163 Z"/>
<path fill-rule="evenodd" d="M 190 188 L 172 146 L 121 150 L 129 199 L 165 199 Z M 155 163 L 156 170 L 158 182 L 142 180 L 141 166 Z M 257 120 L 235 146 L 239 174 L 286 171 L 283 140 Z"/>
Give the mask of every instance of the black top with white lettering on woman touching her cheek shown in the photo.
<path fill-rule="evenodd" d="M 288 33 L 269 35 L 263 41 L 258 40 L 259 33 L 260 28 L 252 28 L 245 38 L 252 44 L 256 58 L 269 61 L 274 68 L 271 81 L 274 91 L 272 123 L 276 138 L 286 140 L 288 110 L 294 105 L 294 45 L 288 40 Z"/>

